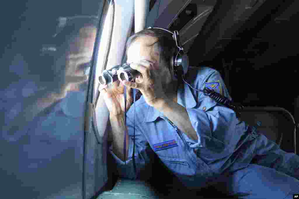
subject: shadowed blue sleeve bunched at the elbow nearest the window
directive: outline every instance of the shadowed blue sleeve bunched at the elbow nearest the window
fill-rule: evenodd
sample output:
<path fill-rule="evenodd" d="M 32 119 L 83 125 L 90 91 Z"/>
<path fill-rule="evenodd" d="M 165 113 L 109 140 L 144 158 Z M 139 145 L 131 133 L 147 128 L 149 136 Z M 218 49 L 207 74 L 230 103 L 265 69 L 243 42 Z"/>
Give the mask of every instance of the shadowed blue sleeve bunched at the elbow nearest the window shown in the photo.
<path fill-rule="evenodd" d="M 134 145 L 134 126 L 132 121 L 127 117 L 126 119 L 126 126 L 128 128 L 129 133 L 129 153 L 128 153 L 128 160 L 125 162 L 120 160 L 110 148 L 109 151 L 112 154 L 112 157 L 115 159 L 117 164 L 118 173 L 123 178 L 129 178 L 129 179 L 137 179 L 138 175 L 142 170 L 144 170 L 145 166 L 151 162 L 151 154 L 149 154 L 148 148 L 150 146 L 148 145 L 148 142 L 141 132 L 141 130 L 138 128 L 138 125 L 135 124 L 135 163 L 136 163 L 136 171 L 137 175 L 135 175 L 134 172 L 134 166 L 133 166 L 133 145 Z"/>

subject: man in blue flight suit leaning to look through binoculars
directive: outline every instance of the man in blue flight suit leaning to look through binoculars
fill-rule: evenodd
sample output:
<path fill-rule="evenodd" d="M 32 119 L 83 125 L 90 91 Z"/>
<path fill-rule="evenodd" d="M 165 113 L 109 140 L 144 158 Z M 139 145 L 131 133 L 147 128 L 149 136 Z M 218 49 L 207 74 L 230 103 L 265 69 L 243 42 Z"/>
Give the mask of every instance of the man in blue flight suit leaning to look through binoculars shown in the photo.
<path fill-rule="evenodd" d="M 120 176 L 136 179 L 150 161 L 146 152 L 150 147 L 189 189 L 213 185 L 228 195 L 243 198 L 292 198 L 299 191 L 299 157 L 284 152 L 239 121 L 232 109 L 187 84 L 179 85 L 170 64 L 175 48 L 171 35 L 164 30 L 136 33 L 127 43 L 127 62 L 141 75 L 135 83 L 120 81 L 119 87 L 115 82 L 112 88 L 100 88 L 110 112 L 110 152 Z M 193 88 L 209 87 L 231 99 L 216 70 L 189 68 L 184 79 Z M 125 126 L 124 85 L 127 95 L 132 88 L 142 93 L 135 104 L 137 175 L 132 163 L 134 108 L 129 108 L 129 96 Z"/>

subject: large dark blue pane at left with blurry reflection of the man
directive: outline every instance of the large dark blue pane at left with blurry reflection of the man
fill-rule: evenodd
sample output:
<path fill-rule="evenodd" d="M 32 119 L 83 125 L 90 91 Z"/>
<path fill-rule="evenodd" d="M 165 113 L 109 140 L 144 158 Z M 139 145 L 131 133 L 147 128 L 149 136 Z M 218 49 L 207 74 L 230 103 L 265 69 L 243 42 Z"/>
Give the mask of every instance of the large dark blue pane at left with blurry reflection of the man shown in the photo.
<path fill-rule="evenodd" d="M 1 64 L 4 198 L 94 195 L 91 180 L 82 177 L 84 158 L 84 171 L 95 172 L 95 155 L 83 155 L 84 124 L 89 68 L 105 2 L 29 0 L 7 9 L 13 17 L 5 27 L 13 36 L 6 38 L 11 47 Z"/>

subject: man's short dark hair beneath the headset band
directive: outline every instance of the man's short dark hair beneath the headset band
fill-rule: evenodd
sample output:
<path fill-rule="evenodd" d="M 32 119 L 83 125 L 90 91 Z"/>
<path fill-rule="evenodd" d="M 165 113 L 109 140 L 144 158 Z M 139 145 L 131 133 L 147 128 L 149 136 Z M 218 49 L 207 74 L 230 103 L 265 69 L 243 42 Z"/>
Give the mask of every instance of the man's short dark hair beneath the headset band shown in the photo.
<path fill-rule="evenodd" d="M 158 38 L 156 42 L 148 46 L 153 46 L 157 44 L 159 47 L 160 61 L 161 59 L 163 59 L 164 61 L 166 61 L 166 63 L 170 64 L 170 58 L 176 52 L 177 49 L 176 42 L 174 41 L 171 33 L 168 33 L 167 31 L 161 29 L 144 29 L 130 36 L 126 43 L 126 55 L 128 53 L 128 48 L 131 46 L 131 44 L 136 39 L 142 36 L 152 36 Z"/>

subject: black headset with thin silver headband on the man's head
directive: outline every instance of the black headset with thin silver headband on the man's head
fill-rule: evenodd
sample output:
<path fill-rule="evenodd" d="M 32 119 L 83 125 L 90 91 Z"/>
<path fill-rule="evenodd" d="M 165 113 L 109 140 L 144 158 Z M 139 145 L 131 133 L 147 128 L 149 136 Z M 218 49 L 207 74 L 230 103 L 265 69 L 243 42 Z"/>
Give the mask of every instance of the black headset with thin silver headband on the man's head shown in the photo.
<path fill-rule="evenodd" d="M 172 34 L 172 38 L 176 42 L 176 47 L 178 48 L 178 50 L 170 58 L 170 66 L 173 67 L 174 75 L 176 76 L 176 78 L 178 78 L 179 70 L 182 70 L 182 75 L 185 75 L 188 72 L 189 59 L 187 54 L 184 53 L 183 47 L 180 46 L 179 32 L 177 30 L 171 32 L 170 30 L 157 27 L 148 27 L 147 29 L 160 29 Z"/>

